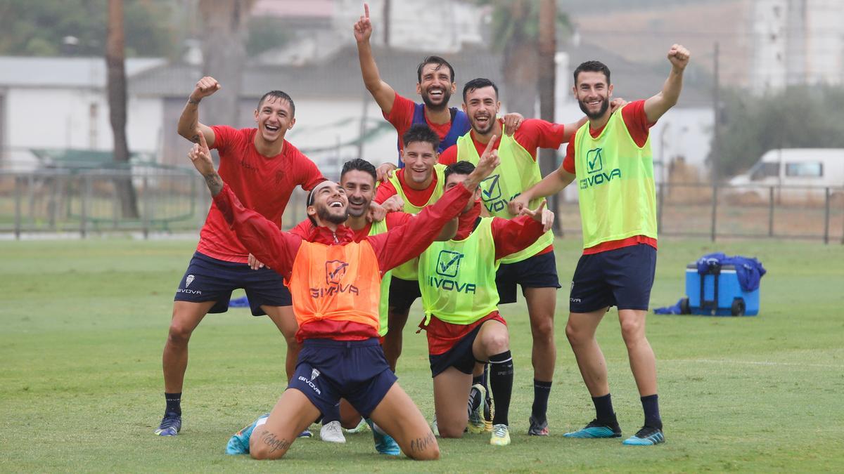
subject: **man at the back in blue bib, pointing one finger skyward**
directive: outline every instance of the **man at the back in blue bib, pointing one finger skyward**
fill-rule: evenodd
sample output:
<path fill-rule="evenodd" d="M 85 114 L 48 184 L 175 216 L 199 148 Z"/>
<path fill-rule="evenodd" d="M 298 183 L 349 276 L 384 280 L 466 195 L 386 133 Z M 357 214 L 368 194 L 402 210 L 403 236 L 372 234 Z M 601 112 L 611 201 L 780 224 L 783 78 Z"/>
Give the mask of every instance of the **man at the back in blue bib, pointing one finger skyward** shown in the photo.
<path fill-rule="evenodd" d="M 404 143 L 401 137 L 413 125 L 425 124 L 436 133 L 440 139 L 437 152 L 457 143 L 457 137 L 468 132 L 469 121 L 463 111 L 448 106 L 448 100 L 457 90 L 452 65 L 442 57 L 425 57 L 416 69 L 416 93 L 422 97 L 423 103 L 414 103 L 413 100 L 399 95 L 390 84 L 381 80 L 375 57 L 372 55 L 371 35 L 372 22 L 369 17 L 369 5 L 364 3 L 364 16 L 361 16 L 354 24 L 354 40 L 358 45 L 360 73 L 363 75 L 366 89 L 370 91 L 378 107 L 381 108 L 384 118 L 398 132 L 399 168 L 406 165 L 402 159 Z M 522 116 L 508 114 L 506 120 L 508 129 L 517 128 L 519 122 L 522 121 Z"/>

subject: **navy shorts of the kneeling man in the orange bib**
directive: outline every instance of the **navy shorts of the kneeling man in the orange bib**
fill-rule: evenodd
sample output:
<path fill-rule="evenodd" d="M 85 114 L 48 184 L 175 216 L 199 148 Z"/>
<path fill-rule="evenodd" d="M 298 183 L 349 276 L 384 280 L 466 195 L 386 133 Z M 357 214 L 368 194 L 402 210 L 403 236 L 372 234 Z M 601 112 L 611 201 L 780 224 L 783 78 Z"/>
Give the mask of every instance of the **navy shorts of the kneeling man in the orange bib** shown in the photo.
<path fill-rule="evenodd" d="M 345 398 L 363 417 L 369 417 L 396 380 L 377 337 L 306 339 L 287 387 L 304 393 L 323 415 L 337 412 L 337 404 Z"/>

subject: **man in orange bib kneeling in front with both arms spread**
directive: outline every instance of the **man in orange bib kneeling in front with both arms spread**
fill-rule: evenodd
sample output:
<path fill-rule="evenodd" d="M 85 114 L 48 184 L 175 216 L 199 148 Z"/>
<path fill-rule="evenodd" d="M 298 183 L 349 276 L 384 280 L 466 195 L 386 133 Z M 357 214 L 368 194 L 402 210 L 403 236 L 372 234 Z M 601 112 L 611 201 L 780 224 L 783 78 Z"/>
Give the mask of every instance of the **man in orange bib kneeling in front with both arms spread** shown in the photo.
<path fill-rule="evenodd" d="M 344 188 L 330 181 L 311 190 L 307 214 L 317 224 L 308 240 L 283 232 L 273 222 L 243 207 L 214 170 L 203 137 L 189 154 L 205 177 L 225 222 L 258 260 L 284 275 L 295 305 L 303 342 L 294 377 L 262 423 L 250 432 L 250 454 L 278 459 L 320 412 L 345 398 L 398 441 L 408 457 L 438 459 L 434 434 L 419 408 L 396 383 L 378 344 L 381 275 L 419 256 L 466 206 L 479 182 L 498 164 L 495 151 L 484 154 L 462 186 L 411 223 L 354 242 L 342 225 L 348 218 Z"/>

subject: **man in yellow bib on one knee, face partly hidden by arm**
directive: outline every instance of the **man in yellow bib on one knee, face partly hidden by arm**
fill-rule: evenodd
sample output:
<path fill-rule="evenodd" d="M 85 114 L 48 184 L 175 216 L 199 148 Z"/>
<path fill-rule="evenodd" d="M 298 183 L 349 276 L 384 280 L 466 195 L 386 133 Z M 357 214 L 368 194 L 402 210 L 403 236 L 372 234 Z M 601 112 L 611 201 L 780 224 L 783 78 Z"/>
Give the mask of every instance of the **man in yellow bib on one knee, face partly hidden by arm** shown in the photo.
<path fill-rule="evenodd" d="M 493 141 L 487 144 L 487 153 Z M 474 165 L 459 161 L 446 169 L 446 191 L 468 179 Z M 473 384 L 476 362 L 490 364 L 495 415 L 490 444 L 510 444 L 507 419 L 513 387 L 513 358 L 505 320 L 500 316 L 495 271 L 500 259 L 533 244 L 554 222 L 544 208 L 522 209 L 512 219 L 481 218 L 475 191 L 458 218 L 457 235 L 435 242 L 419 256 L 419 288 L 428 334 L 430 371 L 434 378 L 434 406 L 439 434 L 461 438 L 469 430 L 484 431 L 484 385 Z M 463 402 L 469 394 L 468 407 Z"/>

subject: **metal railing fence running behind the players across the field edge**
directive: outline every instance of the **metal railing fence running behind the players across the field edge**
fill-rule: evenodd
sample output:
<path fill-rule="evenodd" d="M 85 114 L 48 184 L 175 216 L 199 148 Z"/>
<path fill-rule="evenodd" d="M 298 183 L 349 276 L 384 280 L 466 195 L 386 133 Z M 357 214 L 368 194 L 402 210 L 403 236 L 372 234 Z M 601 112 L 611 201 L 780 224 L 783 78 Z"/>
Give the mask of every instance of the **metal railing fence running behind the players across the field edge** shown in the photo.
<path fill-rule="evenodd" d="M 130 180 L 138 215 L 122 211 L 120 182 Z M 305 218 L 304 193 L 294 192 L 285 227 Z M 38 170 L 0 172 L 0 233 L 196 233 L 210 197 L 193 170 Z M 580 234 L 577 202 L 560 202 L 564 234 Z M 844 187 L 657 185 L 660 235 L 785 238 L 844 244 Z"/>

